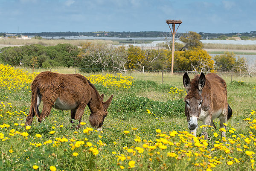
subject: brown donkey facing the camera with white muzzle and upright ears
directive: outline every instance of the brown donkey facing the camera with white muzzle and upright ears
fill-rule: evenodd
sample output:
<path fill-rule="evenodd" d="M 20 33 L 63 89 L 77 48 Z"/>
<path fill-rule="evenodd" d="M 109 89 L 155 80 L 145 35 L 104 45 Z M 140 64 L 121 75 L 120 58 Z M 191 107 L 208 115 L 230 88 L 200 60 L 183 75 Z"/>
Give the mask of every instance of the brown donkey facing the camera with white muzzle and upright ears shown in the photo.
<path fill-rule="evenodd" d="M 200 76 L 200 77 L 199 77 Z M 196 136 L 198 120 L 203 125 L 212 125 L 215 118 L 220 119 L 220 128 L 225 128 L 225 122 L 232 116 L 232 110 L 227 104 L 227 85 L 224 79 L 214 73 L 196 75 L 190 82 L 187 73 L 183 75 L 183 85 L 186 88 L 185 115 L 189 123 L 189 130 Z M 208 138 L 206 128 L 202 135 Z M 221 133 L 225 136 L 225 132 Z"/>

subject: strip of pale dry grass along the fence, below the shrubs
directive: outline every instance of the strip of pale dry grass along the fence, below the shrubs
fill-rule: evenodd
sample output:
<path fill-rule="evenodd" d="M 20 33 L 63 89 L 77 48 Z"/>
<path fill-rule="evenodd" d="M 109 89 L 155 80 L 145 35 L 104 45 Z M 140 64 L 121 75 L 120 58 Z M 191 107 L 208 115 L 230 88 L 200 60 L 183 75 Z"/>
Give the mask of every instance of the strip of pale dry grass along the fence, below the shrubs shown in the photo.
<path fill-rule="evenodd" d="M 119 70 L 115 69 L 105 69 L 102 68 L 50 68 L 47 69 L 53 72 L 59 73 L 80 73 L 84 76 L 96 75 L 96 74 L 117 74 L 120 73 Z M 43 71 L 43 70 L 41 70 Z M 39 72 L 41 72 L 39 71 Z M 37 72 L 35 70 L 35 72 Z M 195 71 L 186 71 L 189 73 L 190 78 L 193 78 L 195 74 L 200 74 L 200 72 Z M 136 71 L 136 70 L 125 70 L 121 71 L 124 76 L 132 76 L 135 79 L 140 80 L 152 80 L 158 83 L 175 83 L 175 84 L 183 84 L 183 74 L 184 71 L 174 71 L 174 74 L 171 74 L 171 70 L 144 70 L 144 71 Z M 205 74 L 209 72 L 204 72 Z M 227 83 L 232 81 L 244 81 L 245 83 L 256 84 L 256 74 L 252 74 L 251 76 L 246 73 L 237 73 L 237 72 L 217 72 L 221 78 L 223 78 Z"/>

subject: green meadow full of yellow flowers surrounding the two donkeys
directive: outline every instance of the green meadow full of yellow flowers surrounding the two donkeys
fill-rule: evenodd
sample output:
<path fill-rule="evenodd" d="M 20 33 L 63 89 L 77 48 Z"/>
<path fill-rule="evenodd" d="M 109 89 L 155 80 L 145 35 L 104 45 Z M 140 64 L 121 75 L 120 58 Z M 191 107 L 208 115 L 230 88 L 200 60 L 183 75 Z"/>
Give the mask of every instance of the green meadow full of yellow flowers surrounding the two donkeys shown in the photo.
<path fill-rule="evenodd" d="M 218 120 L 216 130 L 199 125 L 195 137 L 187 129 L 183 87 L 134 80 L 121 74 L 90 75 L 99 93 L 114 94 L 99 133 L 90 127 L 88 108 L 79 130 L 69 123 L 70 111 L 55 109 L 40 124 L 34 119 L 31 126 L 25 126 L 30 84 L 37 74 L 0 64 L 0 170 L 251 171 L 256 168 L 255 84 L 243 81 L 228 84 L 233 117 L 226 123 L 227 130 L 222 130 L 226 131 L 226 138 L 221 137 Z M 207 140 L 200 136 L 203 127 L 207 127 Z"/>

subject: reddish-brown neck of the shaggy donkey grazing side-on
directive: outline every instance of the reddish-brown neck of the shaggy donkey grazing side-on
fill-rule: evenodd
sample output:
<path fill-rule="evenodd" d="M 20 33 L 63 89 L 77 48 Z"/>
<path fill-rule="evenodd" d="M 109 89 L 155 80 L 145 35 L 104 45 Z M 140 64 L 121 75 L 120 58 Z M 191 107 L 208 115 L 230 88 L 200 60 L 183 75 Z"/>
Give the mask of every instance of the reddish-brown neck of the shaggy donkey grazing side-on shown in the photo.
<path fill-rule="evenodd" d="M 88 107 L 92 113 L 95 113 L 97 110 L 101 110 L 103 108 L 103 104 L 98 91 L 92 84 L 90 84 L 90 92 L 91 92 L 91 99 L 88 103 Z"/>

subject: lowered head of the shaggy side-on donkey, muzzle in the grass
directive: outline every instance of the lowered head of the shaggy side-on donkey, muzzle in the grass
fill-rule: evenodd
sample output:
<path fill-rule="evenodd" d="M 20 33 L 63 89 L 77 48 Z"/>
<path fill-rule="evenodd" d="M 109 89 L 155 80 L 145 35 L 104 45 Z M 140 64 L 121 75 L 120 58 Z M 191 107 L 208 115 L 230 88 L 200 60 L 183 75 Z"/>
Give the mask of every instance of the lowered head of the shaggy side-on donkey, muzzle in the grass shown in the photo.
<path fill-rule="evenodd" d="M 103 97 L 104 95 L 102 94 L 100 96 L 100 105 L 99 108 L 96 110 L 96 112 L 91 112 L 90 114 L 90 124 L 94 127 L 94 128 L 98 128 L 98 131 L 102 130 L 102 125 L 104 122 L 105 117 L 108 115 L 108 107 L 113 99 L 113 95 L 111 95 L 111 97 L 103 102 Z"/>

